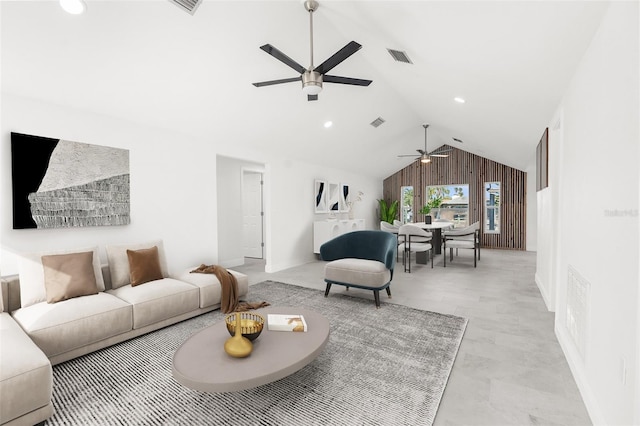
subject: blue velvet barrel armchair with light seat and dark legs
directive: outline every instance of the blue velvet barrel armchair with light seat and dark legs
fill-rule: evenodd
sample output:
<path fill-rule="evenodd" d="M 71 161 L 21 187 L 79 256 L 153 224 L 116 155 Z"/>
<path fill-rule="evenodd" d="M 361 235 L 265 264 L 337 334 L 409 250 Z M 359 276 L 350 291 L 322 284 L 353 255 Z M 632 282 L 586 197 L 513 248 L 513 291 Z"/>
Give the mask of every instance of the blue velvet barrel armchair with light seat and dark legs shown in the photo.
<path fill-rule="evenodd" d="M 325 266 L 325 297 L 332 284 L 372 290 L 380 307 L 380 290 L 391 297 L 391 280 L 396 265 L 397 236 L 384 231 L 353 231 L 327 241 L 320 247 Z"/>

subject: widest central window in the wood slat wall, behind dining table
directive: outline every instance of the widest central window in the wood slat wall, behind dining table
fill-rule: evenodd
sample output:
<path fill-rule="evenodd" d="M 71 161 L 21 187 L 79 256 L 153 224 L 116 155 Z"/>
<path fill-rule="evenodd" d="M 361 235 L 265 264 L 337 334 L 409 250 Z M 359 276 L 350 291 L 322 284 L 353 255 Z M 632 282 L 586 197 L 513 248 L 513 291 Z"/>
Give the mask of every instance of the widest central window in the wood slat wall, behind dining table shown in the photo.
<path fill-rule="evenodd" d="M 453 222 L 456 228 L 469 226 L 469 185 L 427 186 L 427 205 L 435 220 Z"/>

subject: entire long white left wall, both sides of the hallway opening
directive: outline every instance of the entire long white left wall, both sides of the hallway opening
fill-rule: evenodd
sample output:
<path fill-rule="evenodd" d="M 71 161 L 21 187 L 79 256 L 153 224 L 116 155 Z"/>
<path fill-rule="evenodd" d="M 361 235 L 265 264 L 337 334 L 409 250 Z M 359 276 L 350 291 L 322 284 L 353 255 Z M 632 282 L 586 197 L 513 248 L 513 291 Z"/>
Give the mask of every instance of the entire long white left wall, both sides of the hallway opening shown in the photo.
<path fill-rule="evenodd" d="M 316 258 L 313 254 L 313 221 L 327 215 L 314 213 L 315 179 L 344 182 L 355 192 L 362 190 L 365 197 L 355 206 L 356 216 L 364 218 L 368 228 L 375 228 L 377 223 L 376 199 L 382 194 L 382 181 L 377 179 L 281 158 L 269 152 L 249 152 L 234 140 L 233 135 L 212 135 L 211 140 L 195 140 L 164 129 L 5 93 L 2 94 L 2 107 L 0 271 L 3 275 L 18 272 L 15 255 L 20 252 L 99 245 L 102 261 L 106 262 L 105 244 L 156 238 L 165 242 L 171 272 L 200 263 L 232 259 L 236 256 L 235 245 L 241 247 L 242 222 L 237 229 L 226 226 L 230 222 L 226 214 L 236 211 L 241 216 L 241 193 L 238 191 L 238 198 L 233 200 L 230 191 L 222 190 L 221 200 L 218 189 L 227 188 L 226 179 L 236 173 L 239 185 L 241 168 L 248 164 L 264 164 L 268 272 Z M 131 224 L 52 230 L 11 229 L 12 131 L 129 149 Z M 218 182 L 218 155 L 238 159 L 231 165 L 223 162 L 221 179 L 225 182 Z M 224 207 L 219 205 L 222 202 Z M 223 235 L 219 235 L 219 229 L 224 230 Z M 222 253 L 219 247 L 223 247 Z M 221 254 L 224 259 L 220 259 Z"/>

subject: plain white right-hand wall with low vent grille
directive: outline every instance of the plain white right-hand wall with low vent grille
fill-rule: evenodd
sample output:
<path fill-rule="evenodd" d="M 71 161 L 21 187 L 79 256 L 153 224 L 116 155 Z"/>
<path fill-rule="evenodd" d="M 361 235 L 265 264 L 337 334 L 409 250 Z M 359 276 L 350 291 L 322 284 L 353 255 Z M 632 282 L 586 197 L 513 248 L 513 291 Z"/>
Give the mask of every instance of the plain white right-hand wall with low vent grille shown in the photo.
<path fill-rule="evenodd" d="M 558 340 L 592 420 L 607 425 L 640 423 L 638 19 L 637 2 L 610 4 L 558 108 L 557 192 L 544 197 L 556 229 L 538 229 L 539 251 L 556 250 Z M 570 266 L 590 285 L 584 355 L 566 325 Z"/>

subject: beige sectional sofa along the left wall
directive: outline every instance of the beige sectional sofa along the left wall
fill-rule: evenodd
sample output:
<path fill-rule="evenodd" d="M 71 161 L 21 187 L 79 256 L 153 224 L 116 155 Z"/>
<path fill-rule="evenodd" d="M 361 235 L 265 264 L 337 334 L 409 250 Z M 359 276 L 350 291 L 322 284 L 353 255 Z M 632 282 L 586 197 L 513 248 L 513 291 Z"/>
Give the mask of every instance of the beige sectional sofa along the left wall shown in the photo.
<path fill-rule="evenodd" d="M 162 276 L 132 285 L 122 256 L 126 259 L 127 247 L 158 247 Z M 97 248 L 89 250 L 94 250 L 95 294 L 56 303 L 42 300 L 41 253 L 26 255 L 20 275 L 2 279 L 1 425 L 33 425 L 53 414 L 52 365 L 220 307 L 216 276 L 191 274 L 194 267 L 170 277 L 161 241 L 108 246 L 109 264 L 102 266 L 96 263 Z M 230 272 L 239 295 L 246 295 L 247 276 Z"/>

